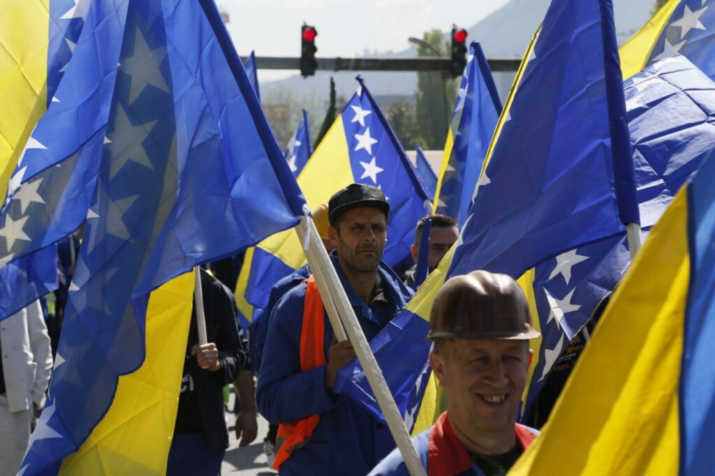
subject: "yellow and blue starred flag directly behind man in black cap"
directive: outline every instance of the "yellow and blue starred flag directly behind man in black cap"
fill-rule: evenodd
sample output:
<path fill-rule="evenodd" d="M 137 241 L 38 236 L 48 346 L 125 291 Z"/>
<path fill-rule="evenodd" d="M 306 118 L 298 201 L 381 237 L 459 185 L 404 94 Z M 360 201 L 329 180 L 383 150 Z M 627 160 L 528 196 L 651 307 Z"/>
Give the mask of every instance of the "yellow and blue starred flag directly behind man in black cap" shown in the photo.
<path fill-rule="evenodd" d="M 345 105 L 320 145 L 297 177 L 311 209 L 353 182 L 370 184 L 385 192 L 390 203 L 388 243 L 383 261 L 391 267 L 408 257 L 418 219 L 427 214 L 427 196 L 410 159 L 390 128 L 367 86 L 360 86 Z M 237 289 L 247 302 L 263 308 L 273 284 L 305 264 L 295 232 L 276 234 L 255 248 L 247 289 Z M 239 281 L 242 277 L 239 277 Z"/>

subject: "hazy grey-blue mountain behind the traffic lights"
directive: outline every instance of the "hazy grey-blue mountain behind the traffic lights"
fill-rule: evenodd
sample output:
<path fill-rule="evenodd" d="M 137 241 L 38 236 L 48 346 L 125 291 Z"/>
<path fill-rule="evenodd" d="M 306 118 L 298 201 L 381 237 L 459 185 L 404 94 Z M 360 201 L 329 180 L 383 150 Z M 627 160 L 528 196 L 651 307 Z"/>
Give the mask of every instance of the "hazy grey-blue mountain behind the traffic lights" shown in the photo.
<path fill-rule="evenodd" d="M 480 41 L 488 58 L 521 58 L 531 41 L 533 32 L 546 14 L 549 4 L 550 0 L 512 0 L 485 19 L 470 26 L 468 41 Z M 613 4 L 618 42 L 622 44 L 648 21 L 654 0 L 613 0 Z M 456 12 L 455 19 L 459 20 L 464 16 L 465 12 Z M 421 36 L 422 33 L 414 32 L 415 36 Z M 405 39 L 406 43 L 407 39 Z M 317 46 L 320 48 L 320 44 Z M 260 51 L 257 51 L 257 54 L 260 56 Z M 411 57 L 415 54 L 416 50 L 413 47 L 381 56 Z M 327 98 L 330 76 L 332 76 L 335 78 L 338 97 L 348 99 L 357 86 L 356 74 L 355 71 L 317 71 L 315 76 L 307 79 L 296 74 L 278 81 L 262 82 L 261 94 L 266 102 L 272 102 L 274 95 L 281 96 L 280 91 L 287 90 L 297 96 L 307 96 L 312 99 L 310 102 L 318 98 L 323 101 Z M 412 96 L 417 89 L 417 74 L 413 72 L 365 71 L 361 75 L 373 96 L 378 99 L 380 107 L 385 109 L 395 98 Z M 506 98 L 512 80 L 513 73 L 495 74 L 495 82 L 502 99 Z"/>

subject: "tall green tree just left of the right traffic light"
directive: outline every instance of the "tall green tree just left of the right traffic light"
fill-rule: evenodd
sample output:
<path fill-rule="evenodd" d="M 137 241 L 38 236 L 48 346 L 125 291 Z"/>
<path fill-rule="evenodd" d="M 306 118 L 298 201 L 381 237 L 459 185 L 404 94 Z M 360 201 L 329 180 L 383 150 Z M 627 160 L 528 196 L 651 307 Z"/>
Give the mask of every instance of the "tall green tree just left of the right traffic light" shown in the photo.
<path fill-rule="evenodd" d="M 417 56 L 450 56 L 450 43 L 442 31 L 427 31 L 423 40 L 430 46 L 419 46 Z M 417 122 L 430 149 L 444 147 L 456 96 L 457 82 L 448 74 L 438 71 L 417 74 Z"/>

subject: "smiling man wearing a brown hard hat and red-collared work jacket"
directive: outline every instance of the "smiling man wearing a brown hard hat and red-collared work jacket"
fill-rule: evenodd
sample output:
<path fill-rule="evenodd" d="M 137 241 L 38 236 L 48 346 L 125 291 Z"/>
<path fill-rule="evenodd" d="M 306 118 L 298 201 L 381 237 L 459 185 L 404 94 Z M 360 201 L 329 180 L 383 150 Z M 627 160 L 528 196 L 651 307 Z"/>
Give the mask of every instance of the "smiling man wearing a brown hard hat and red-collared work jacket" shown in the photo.
<path fill-rule="evenodd" d="M 417 435 L 428 475 L 504 475 L 538 434 L 516 423 L 531 362 L 526 297 L 506 274 L 449 279 L 435 297 L 428 339 L 447 411 Z M 398 450 L 370 475 L 408 475 Z"/>

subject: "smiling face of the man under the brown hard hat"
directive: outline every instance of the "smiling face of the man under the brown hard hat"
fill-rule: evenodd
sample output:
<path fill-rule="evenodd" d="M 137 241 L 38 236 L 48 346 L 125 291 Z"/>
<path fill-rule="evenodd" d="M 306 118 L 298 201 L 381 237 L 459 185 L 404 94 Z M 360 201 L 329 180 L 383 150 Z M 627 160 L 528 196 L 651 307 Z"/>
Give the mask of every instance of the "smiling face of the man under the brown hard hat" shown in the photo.
<path fill-rule="evenodd" d="M 430 364 L 444 387 L 450 421 L 472 432 L 513 429 L 526 386 L 528 341 L 455 339 Z"/>

